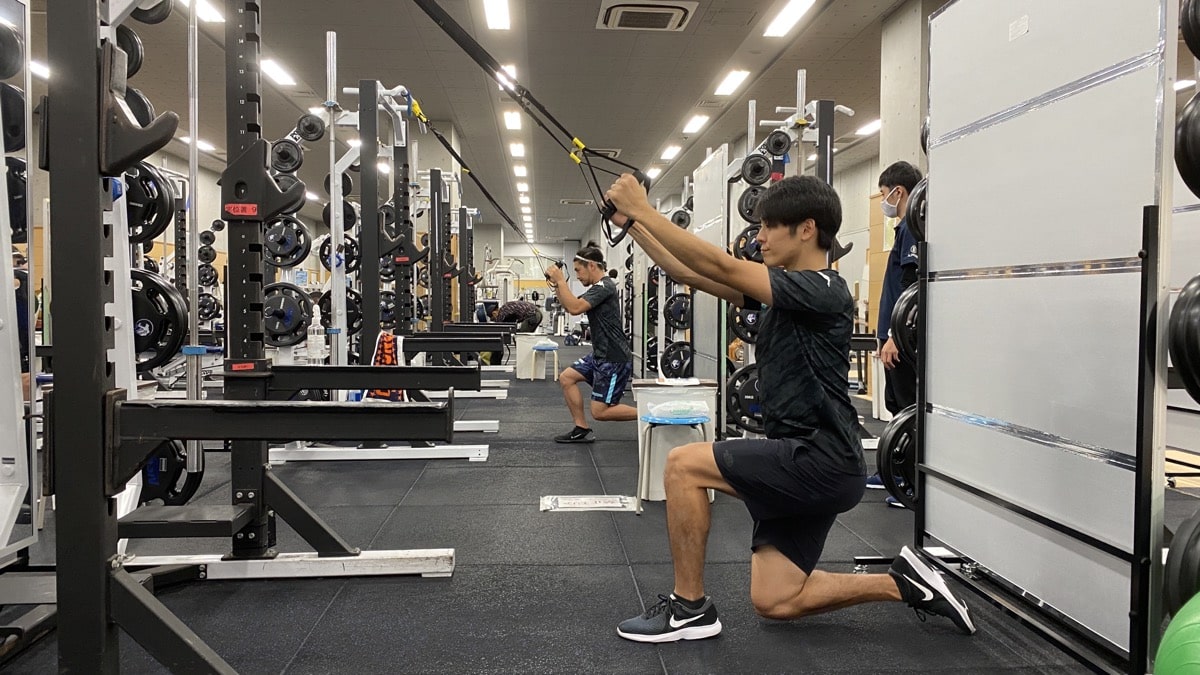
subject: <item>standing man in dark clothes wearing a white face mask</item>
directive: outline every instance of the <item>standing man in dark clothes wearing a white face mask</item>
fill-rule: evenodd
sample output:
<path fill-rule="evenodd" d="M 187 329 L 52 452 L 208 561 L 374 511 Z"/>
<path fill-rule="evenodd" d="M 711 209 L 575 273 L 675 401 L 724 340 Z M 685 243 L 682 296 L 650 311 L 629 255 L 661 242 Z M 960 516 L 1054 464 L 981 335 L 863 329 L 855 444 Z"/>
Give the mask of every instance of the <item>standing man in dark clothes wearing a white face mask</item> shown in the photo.
<path fill-rule="evenodd" d="M 883 201 L 880 208 L 887 219 L 899 217 L 895 225 L 895 240 L 888 253 L 888 267 L 883 273 L 883 292 L 880 294 L 880 310 L 876 336 L 880 340 L 880 360 L 883 362 L 884 386 L 883 404 L 888 412 L 896 414 L 917 402 L 917 364 L 900 358 L 900 351 L 892 339 L 892 309 L 895 307 L 900 293 L 917 282 L 917 239 L 908 232 L 905 214 L 908 210 L 908 193 L 920 183 L 920 171 L 908 162 L 895 162 L 880 174 L 880 193 Z M 866 479 L 866 486 L 883 489 L 878 474 Z M 898 508 L 904 506 L 894 497 L 888 497 L 888 504 Z"/>

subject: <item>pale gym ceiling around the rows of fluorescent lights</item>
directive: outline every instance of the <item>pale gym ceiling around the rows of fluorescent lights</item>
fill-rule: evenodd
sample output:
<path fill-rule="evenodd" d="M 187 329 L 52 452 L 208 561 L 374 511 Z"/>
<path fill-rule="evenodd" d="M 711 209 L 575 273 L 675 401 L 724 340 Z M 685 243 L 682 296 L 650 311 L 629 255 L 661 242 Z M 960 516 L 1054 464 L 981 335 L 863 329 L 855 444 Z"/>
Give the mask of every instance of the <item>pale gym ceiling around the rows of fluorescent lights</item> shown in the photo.
<path fill-rule="evenodd" d="M 180 113 L 178 135 L 184 136 L 186 14 L 174 1 L 175 16 L 162 24 L 130 23 L 146 47 L 145 66 L 131 84 L 160 112 Z M 850 145 L 860 141 L 853 135 L 858 126 L 878 118 L 881 20 L 900 1 L 818 0 L 784 38 L 766 38 L 762 32 L 786 0 L 700 0 L 686 29 L 672 34 L 598 30 L 600 0 L 509 0 L 512 28 L 508 31 L 486 28 L 482 0 L 440 0 L 440 5 L 498 61 L 516 64 L 517 79 L 582 141 L 595 148 L 620 148 L 620 159 L 635 166 L 664 166 L 652 196 L 666 196 L 680 191 L 706 147 L 745 133 L 750 98 L 757 101 L 763 119 L 781 117 L 774 113 L 775 106 L 794 104 L 798 68 L 808 71 L 810 100 L 833 98 L 857 112 L 851 120 L 839 119 L 838 145 L 844 151 L 838 162 L 846 166 L 875 155 L 874 138 Z M 43 61 L 46 23 L 40 11 L 44 2 L 34 2 L 31 40 L 34 58 Z M 220 0 L 214 5 L 224 11 Z M 296 86 L 280 88 L 263 78 L 266 138 L 286 133 L 296 117 L 324 98 L 316 92 L 324 90 L 325 31 L 334 30 L 340 85 L 374 78 L 386 86 L 408 86 L 443 132 L 451 125 L 458 130 L 463 159 L 518 221 L 518 179 L 512 175 L 508 144 L 526 144 L 530 175 L 521 180 L 532 187 L 539 240 L 576 239 L 598 221 L 592 207 L 559 203 L 589 195 L 570 159 L 528 119 L 520 132 L 505 130 L 502 114 L 516 106 L 415 4 L 287 0 L 264 6 L 263 53 L 298 80 Z M 202 32 L 199 136 L 218 148 L 203 163 L 221 171 L 223 24 L 202 24 Z M 746 84 L 733 96 L 714 96 L 716 84 L 734 67 L 751 71 Z M 341 103 L 348 109 L 358 106 L 348 95 L 341 96 Z M 683 123 L 696 113 L 713 120 L 700 133 L 684 137 Z M 422 145 L 434 143 L 432 137 L 419 139 Z M 672 143 L 684 151 L 668 166 L 656 161 Z M 300 171 L 310 191 L 322 197 L 320 180 L 329 171 L 325 148 L 313 148 Z M 176 142 L 168 150 L 184 153 L 185 147 Z M 607 184 L 606 177 L 600 179 Z M 464 202 L 482 209 L 482 222 L 500 222 L 470 181 L 464 183 Z M 319 219 L 317 207 L 305 213 Z M 557 222 L 562 220 L 570 222 Z"/>

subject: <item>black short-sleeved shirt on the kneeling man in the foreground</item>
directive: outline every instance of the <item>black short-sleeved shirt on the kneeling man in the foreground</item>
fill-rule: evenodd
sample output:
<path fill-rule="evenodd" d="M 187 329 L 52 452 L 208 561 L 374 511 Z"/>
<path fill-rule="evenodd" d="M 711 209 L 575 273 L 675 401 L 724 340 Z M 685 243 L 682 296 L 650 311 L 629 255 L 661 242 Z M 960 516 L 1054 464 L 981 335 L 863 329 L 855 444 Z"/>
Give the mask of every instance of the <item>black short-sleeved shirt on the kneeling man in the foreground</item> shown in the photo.
<path fill-rule="evenodd" d="M 817 440 L 836 468 L 862 472 L 858 412 L 850 402 L 850 288 L 832 269 L 768 271 L 773 305 L 762 311 L 755 341 L 767 436 Z"/>

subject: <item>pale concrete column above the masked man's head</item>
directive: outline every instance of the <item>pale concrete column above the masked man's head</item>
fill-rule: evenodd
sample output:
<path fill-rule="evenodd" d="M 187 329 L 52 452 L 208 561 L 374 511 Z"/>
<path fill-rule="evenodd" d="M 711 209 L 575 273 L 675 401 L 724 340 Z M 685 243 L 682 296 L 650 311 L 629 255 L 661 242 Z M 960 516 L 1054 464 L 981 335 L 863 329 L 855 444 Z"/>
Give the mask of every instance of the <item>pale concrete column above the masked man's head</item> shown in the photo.
<path fill-rule="evenodd" d="M 929 14 L 944 0 L 908 0 L 883 19 L 880 44 L 880 166 L 905 160 L 925 171 L 920 125 L 929 92 Z"/>

